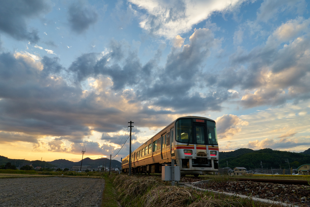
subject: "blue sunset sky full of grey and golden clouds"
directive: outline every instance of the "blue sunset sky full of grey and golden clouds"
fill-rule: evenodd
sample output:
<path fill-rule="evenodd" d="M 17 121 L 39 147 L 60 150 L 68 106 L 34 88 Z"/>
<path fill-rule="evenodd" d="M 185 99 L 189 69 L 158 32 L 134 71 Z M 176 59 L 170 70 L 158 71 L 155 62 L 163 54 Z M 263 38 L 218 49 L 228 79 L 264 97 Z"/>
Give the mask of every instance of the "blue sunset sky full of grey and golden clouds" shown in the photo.
<path fill-rule="evenodd" d="M 310 148 L 306 0 L 0 4 L 2 156 L 120 161 L 128 122 L 136 149 L 183 116 L 220 151 Z"/>

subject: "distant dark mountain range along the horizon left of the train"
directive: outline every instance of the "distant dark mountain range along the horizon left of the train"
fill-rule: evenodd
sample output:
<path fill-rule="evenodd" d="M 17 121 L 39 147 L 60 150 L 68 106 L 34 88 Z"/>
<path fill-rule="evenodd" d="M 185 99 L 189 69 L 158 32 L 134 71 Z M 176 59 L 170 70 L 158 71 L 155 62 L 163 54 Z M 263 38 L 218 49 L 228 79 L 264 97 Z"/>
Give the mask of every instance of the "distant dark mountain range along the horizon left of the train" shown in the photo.
<path fill-rule="evenodd" d="M 10 162 L 12 165 L 16 167 L 20 166 L 23 163 L 32 163 L 32 166 L 35 167 L 47 167 L 47 168 L 72 168 L 73 165 L 81 165 L 81 161 L 79 162 L 72 162 L 66 159 L 56 159 L 51 162 L 40 161 L 40 160 L 23 160 L 23 159 L 10 159 L 0 155 L 0 165 L 5 165 L 6 163 Z M 90 159 L 84 158 L 82 165 L 90 165 L 92 168 L 97 168 L 98 166 L 102 165 L 109 167 L 110 159 L 108 158 L 100 158 L 100 159 Z M 121 167 L 121 162 L 115 159 L 111 160 L 111 168 Z"/>

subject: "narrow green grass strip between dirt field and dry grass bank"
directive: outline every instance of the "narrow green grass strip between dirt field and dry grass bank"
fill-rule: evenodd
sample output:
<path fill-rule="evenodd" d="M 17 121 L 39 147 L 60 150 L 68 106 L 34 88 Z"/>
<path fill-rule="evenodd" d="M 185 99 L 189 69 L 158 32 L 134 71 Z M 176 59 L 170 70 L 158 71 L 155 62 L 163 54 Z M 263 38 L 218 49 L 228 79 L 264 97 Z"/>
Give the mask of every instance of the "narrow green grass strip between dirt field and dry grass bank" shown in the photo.
<path fill-rule="evenodd" d="M 116 175 L 110 175 L 108 173 L 103 174 L 105 181 L 104 191 L 102 193 L 101 207 L 119 207 L 120 205 L 116 200 L 116 190 L 113 185 L 113 180 Z"/>

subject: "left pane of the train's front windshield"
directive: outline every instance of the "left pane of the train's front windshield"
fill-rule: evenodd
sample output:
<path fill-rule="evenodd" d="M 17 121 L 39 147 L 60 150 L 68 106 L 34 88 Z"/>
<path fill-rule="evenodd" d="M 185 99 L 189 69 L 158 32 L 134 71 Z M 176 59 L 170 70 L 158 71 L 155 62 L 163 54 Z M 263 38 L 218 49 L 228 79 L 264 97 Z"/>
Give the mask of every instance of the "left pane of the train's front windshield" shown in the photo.
<path fill-rule="evenodd" d="M 179 119 L 175 125 L 176 125 L 176 140 L 182 143 L 193 144 L 192 120 Z"/>

